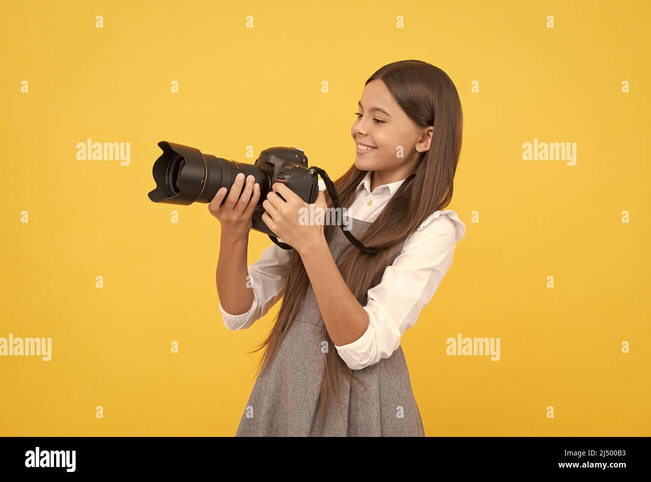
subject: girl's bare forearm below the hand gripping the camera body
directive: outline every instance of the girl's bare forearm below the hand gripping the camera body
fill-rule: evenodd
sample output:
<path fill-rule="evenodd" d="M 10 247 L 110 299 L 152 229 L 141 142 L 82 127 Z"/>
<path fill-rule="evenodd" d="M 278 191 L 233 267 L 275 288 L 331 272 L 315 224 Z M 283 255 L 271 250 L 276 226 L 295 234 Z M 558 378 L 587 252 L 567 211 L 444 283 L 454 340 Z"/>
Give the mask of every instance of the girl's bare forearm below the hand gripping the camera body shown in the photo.
<path fill-rule="evenodd" d="M 358 340 L 368 328 L 368 314 L 339 273 L 326 239 L 303 245 L 299 254 L 330 339 L 338 346 Z"/>

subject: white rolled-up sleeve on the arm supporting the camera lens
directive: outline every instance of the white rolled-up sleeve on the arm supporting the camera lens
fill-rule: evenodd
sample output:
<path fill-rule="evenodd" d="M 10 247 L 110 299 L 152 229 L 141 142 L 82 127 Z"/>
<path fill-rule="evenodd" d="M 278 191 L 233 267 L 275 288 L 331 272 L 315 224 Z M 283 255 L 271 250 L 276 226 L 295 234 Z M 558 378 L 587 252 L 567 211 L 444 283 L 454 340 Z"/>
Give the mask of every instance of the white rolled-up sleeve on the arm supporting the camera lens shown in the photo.
<path fill-rule="evenodd" d="M 258 261 L 249 265 L 247 268 L 249 278 L 246 282 L 251 284 L 253 289 L 253 302 L 249 311 L 234 315 L 225 311 L 219 301 L 219 311 L 225 327 L 229 330 L 243 330 L 251 327 L 283 297 L 289 276 L 291 252 L 274 243 L 262 251 Z"/>

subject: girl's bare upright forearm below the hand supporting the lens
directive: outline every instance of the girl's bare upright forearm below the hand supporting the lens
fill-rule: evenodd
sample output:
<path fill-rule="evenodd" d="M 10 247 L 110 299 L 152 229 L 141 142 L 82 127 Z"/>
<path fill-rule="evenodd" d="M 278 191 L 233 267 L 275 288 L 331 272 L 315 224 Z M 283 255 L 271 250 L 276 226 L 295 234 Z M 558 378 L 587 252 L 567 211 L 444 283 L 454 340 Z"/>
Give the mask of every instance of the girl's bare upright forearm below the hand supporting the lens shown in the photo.
<path fill-rule="evenodd" d="M 249 288 L 247 247 L 249 236 L 229 236 L 221 233 L 217 260 L 217 294 L 222 308 L 232 315 L 249 311 L 253 304 L 253 288 Z"/>

